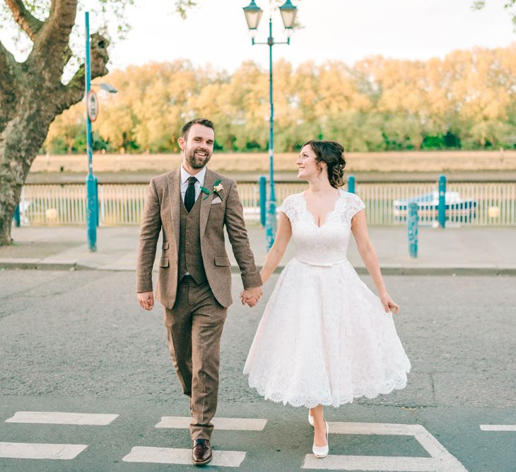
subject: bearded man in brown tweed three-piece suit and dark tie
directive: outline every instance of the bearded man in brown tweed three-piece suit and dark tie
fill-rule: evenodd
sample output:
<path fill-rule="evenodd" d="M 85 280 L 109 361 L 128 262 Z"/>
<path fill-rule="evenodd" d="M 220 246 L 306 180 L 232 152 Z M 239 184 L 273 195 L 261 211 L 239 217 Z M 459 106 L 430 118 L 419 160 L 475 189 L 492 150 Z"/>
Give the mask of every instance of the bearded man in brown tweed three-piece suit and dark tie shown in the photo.
<path fill-rule="evenodd" d="M 242 303 L 262 296 L 237 185 L 206 168 L 215 131 L 208 119 L 183 126 L 177 140 L 179 169 L 154 177 L 143 210 L 136 265 L 136 292 L 144 309 L 154 305 L 152 270 L 160 231 L 163 243 L 156 299 L 165 307 L 172 363 L 190 399 L 192 461 L 211 461 L 210 423 L 217 408 L 221 335 L 231 298 L 224 225 L 242 273 Z"/>

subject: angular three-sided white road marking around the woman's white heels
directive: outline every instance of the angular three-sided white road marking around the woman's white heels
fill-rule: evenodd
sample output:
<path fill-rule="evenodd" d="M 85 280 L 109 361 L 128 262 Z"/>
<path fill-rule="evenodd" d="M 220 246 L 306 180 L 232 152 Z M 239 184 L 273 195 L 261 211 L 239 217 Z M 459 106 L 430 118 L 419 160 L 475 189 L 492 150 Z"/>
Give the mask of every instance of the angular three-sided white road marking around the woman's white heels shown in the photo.
<path fill-rule="evenodd" d="M 332 468 L 341 471 L 356 471 L 359 469 L 383 472 L 467 472 L 466 468 L 421 425 L 343 422 L 329 422 L 328 424 L 330 434 L 414 436 L 416 441 L 430 454 L 430 457 L 342 455 L 317 459 L 312 454 L 307 454 L 303 468 Z M 332 442 L 330 440 L 331 448 Z"/>

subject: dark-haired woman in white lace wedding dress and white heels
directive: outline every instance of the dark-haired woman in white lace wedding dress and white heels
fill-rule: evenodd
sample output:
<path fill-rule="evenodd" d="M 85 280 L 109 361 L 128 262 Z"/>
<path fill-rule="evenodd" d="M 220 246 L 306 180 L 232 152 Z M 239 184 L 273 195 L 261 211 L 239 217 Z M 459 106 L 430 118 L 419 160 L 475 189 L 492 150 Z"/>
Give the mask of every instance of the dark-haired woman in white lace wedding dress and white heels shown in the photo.
<path fill-rule="evenodd" d="M 250 387 L 265 399 L 310 408 L 312 451 L 319 458 L 329 450 L 322 406 L 403 389 L 411 367 L 392 319 L 399 305 L 387 293 L 368 237 L 365 205 L 339 189 L 343 153 L 334 141 L 308 141 L 301 149 L 298 179 L 310 187 L 283 201 L 262 281 L 291 237 L 297 253 L 278 277 L 244 367 Z M 378 296 L 346 259 L 351 232 Z M 242 298 L 250 306 L 257 301 Z"/>

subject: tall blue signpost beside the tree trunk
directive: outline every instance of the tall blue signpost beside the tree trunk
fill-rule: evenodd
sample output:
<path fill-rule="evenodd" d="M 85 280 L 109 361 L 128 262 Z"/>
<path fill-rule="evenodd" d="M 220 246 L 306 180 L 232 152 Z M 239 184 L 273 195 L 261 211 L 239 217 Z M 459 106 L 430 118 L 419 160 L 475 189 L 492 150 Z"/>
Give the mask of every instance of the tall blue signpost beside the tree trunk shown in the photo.
<path fill-rule="evenodd" d="M 97 178 L 93 175 L 93 136 L 91 133 L 91 119 L 88 110 L 88 99 L 91 89 L 91 68 L 90 68 L 90 13 L 86 11 L 86 148 L 88 153 L 88 177 L 86 177 L 86 225 L 88 227 L 88 247 L 91 252 L 97 250 L 97 225 L 98 225 L 98 193 Z M 96 116 L 95 116 L 96 117 Z"/>

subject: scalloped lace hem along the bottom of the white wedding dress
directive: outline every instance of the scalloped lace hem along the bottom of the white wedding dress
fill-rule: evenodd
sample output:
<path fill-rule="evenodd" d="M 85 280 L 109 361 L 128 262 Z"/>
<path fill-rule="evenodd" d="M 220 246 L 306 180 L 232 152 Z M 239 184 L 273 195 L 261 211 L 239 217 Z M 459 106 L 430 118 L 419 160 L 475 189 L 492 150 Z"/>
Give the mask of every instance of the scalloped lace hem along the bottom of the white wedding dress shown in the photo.
<path fill-rule="evenodd" d="M 408 374 L 410 370 L 406 371 Z M 337 408 L 338 406 L 345 405 L 346 403 L 353 403 L 354 399 L 359 399 L 365 397 L 366 399 L 375 399 L 380 395 L 391 394 L 394 390 L 401 390 L 406 387 L 407 378 L 406 374 L 404 377 L 396 379 L 392 382 L 388 382 L 383 385 L 379 389 L 368 390 L 368 391 L 356 391 L 352 396 L 340 396 L 338 399 L 334 399 L 332 397 L 327 397 L 323 399 L 314 399 L 313 397 L 306 396 L 296 396 L 295 398 L 285 399 L 285 395 L 281 394 L 281 392 L 272 392 L 269 393 L 266 389 L 258 384 L 258 382 L 249 382 L 249 386 L 252 389 L 255 389 L 259 396 L 263 396 L 265 400 L 273 401 L 274 403 L 283 403 L 283 405 L 291 405 L 291 406 L 305 406 L 306 408 L 315 408 L 317 405 L 322 406 L 334 406 Z"/>

